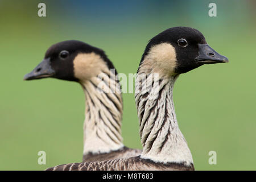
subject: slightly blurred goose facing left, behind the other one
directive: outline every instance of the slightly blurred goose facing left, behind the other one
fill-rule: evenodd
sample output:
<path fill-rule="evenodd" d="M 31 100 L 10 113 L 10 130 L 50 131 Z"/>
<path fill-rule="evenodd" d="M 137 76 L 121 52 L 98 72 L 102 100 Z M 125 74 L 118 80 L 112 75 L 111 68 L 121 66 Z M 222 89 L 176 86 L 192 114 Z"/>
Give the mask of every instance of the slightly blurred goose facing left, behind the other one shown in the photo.
<path fill-rule="evenodd" d="M 114 65 L 99 48 L 77 40 L 53 44 L 24 80 L 76 81 L 85 93 L 83 161 L 129 158 L 141 150 L 123 145 L 122 92 Z"/>

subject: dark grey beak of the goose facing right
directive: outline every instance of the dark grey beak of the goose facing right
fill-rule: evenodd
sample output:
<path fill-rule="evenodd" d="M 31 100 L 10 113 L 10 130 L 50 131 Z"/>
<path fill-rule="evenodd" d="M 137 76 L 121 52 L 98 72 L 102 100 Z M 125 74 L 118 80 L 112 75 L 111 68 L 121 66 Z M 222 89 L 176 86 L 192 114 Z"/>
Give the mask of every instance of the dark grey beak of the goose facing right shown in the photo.
<path fill-rule="evenodd" d="M 203 64 L 228 63 L 228 58 L 214 51 L 208 44 L 198 44 L 199 55 L 196 60 Z"/>

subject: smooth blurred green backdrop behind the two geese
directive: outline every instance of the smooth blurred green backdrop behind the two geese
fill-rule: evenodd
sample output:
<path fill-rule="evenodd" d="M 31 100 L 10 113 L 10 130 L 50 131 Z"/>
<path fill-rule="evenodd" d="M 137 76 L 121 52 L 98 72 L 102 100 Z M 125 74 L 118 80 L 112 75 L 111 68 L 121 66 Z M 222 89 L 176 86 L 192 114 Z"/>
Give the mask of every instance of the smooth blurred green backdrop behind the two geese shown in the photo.
<path fill-rule="evenodd" d="M 38 17 L 38 3 L 47 16 Z M 210 2 L 217 17 L 208 16 Z M 228 64 L 205 65 L 176 82 L 179 126 L 197 170 L 256 169 L 255 1 L 0 1 L 0 169 L 42 170 L 82 159 L 84 93 L 75 82 L 23 81 L 53 43 L 102 48 L 119 73 L 135 73 L 147 41 L 193 27 Z M 134 94 L 123 94 L 122 135 L 142 148 Z M 47 164 L 38 164 L 38 151 Z M 208 152 L 217 152 L 209 165 Z"/>

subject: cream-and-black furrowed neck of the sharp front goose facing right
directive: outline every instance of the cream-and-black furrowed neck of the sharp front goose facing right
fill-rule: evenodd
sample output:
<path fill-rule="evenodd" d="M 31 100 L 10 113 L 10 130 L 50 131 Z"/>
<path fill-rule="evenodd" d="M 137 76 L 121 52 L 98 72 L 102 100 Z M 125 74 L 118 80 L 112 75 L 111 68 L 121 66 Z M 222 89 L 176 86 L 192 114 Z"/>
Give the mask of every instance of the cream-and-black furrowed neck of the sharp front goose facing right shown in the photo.
<path fill-rule="evenodd" d="M 177 76 L 158 78 L 138 72 L 135 102 L 138 110 L 141 158 L 160 163 L 193 164 L 187 142 L 177 124 L 172 90 Z"/>

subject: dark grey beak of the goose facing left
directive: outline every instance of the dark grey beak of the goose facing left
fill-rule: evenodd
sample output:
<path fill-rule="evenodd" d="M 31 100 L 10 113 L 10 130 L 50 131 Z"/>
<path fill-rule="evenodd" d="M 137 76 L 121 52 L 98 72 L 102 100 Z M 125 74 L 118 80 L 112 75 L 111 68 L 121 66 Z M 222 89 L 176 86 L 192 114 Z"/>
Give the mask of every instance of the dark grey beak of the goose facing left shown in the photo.
<path fill-rule="evenodd" d="M 51 68 L 50 59 L 44 59 L 32 72 L 27 73 L 23 80 L 35 80 L 40 78 L 52 77 L 55 71 Z"/>

